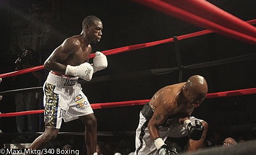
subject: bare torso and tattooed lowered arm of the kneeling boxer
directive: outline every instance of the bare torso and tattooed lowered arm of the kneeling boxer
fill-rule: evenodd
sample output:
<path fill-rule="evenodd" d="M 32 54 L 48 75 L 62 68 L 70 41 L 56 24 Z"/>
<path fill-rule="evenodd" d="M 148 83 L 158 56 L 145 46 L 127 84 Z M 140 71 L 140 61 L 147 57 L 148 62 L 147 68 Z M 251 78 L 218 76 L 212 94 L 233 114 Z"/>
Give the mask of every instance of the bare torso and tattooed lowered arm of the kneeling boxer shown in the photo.
<path fill-rule="evenodd" d="M 153 141 L 160 137 L 158 127 L 165 126 L 168 118 L 177 118 L 183 125 L 184 121 L 189 119 L 195 105 L 201 104 L 202 99 L 198 97 L 199 95 L 189 93 L 187 83 L 188 81 L 161 88 L 151 98 L 149 105 L 154 112 L 148 122 L 148 130 Z M 204 87 L 207 89 L 206 86 Z M 190 91 L 193 89 L 190 88 Z"/>

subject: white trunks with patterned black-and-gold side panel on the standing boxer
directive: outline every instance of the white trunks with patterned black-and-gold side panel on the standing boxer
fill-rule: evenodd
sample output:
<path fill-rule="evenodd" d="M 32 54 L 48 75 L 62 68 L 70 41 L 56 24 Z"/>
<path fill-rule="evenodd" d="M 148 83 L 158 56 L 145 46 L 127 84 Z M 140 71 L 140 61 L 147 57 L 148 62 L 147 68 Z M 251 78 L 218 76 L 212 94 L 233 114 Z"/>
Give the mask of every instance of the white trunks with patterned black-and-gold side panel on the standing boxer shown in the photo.
<path fill-rule="evenodd" d="M 44 83 L 45 127 L 61 128 L 65 122 L 93 113 L 93 109 L 81 91 L 78 77 L 59 76 L 49 72 Z"/>

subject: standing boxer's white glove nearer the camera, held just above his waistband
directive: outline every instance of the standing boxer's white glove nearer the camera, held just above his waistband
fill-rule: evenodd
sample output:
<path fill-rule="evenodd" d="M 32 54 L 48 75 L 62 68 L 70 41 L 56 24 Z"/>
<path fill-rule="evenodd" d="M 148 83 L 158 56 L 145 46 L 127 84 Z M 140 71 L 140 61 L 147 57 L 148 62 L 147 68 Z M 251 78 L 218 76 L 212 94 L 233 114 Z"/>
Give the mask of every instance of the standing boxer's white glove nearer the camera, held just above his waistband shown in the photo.
<path fill-rule="evenodd" d="M 91 81 L 91 78 L 93 77 L 93 67 L 88 62 L 84 62 L 79 66 L 67 65 L 65 74 Z"/>

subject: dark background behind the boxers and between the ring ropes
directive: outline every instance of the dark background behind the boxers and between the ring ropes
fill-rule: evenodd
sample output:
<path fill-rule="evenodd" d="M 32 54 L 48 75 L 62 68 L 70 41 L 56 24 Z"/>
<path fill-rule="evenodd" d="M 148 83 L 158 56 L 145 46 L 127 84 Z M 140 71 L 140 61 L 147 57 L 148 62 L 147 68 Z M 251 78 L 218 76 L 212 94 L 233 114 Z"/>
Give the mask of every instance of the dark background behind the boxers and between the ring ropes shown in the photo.
<path fill-rule="evenodd" d="M 209 1 L 241 20 L 256 18 L 255 0 Z M 2 0 L 0 73 L 14 71 L 15 59 L 23 47 L 31 47 L 40 55 L 40 63 L 63 40 L 81 33 L 85 16 L 94 14 L 103 21 L 103 37 L 93 44 L 93 52 L 127 45 L 153 42 L 185 35 L 198 26 L 173 18 L 132 1 L 19 1 Z M 209 62 L 240 55 L 255 54 L 255 45 L 211 33 L 178 41 L 182 65 Z M 177 67 L 174 43 L 165 43 L 122 54 L 108 55 L 108 68 L 94 77 L 142 72 L 148 69 Z M 183 80 L 200 74 L 207 79 L 209 93 L 255 88 L 255 59 L 183 71 Z M 45 74 L 47 72 L 45 71 Z M 83 91 L 93 103 L 150 99 L 163 86 L 178 83 L 178 71 L 158 76 L 110 78 L 108 81 L 82 83 Z M 9 77 L 1 83 L 1 91 L 15 89 Z M 99 131 L 135 130 L 142 106 L 125 106 L 95 110 Z M 194 115 L 209 123 L 210 130 L 252 130 L 256 123 L 255 95 L 206 99 Z M 15 112 L 13 95 L 0 101 L 0 112 Z M 238 126 L 237 126 L 238 125 Z M 240 125 L 242 128 L 240 129 Z M 248 125 L 250 128 L 248 129 Z M 236 128 L 232 128 L 236 127 Z M 79 120 L 63 123 L 61 131 L 80 132 Z M 3 132 L 16 132 L 15 117 L 0 118 Z"/>

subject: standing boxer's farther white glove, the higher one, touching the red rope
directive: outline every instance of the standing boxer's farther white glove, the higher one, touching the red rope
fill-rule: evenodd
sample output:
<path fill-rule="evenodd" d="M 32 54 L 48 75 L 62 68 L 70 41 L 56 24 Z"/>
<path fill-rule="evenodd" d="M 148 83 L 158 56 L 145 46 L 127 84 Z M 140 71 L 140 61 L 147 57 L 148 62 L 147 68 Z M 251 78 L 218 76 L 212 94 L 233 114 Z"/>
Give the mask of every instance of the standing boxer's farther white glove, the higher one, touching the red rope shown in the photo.
<path fill-rule="evenodd" d="M 95 52 L 95 57 L 93 58 L 93 73 L 100 71 L 108 67 L 108 60 L 106 55 L 102 52 Z"/>

